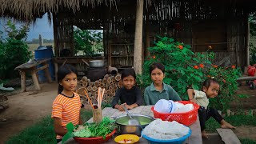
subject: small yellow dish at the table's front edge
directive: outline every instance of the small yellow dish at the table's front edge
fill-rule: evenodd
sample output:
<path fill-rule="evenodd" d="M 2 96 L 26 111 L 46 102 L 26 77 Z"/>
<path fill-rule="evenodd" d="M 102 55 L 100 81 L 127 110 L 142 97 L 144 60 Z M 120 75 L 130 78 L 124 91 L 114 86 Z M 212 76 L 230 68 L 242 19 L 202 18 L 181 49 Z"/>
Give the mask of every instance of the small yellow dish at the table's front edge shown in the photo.
<path fill-rule="evenodd" d="M 138 142 L 139 137 L 135 134 L 122 134 L 114 138 L 114 142 L 117 143 L 135 143 Z"/>

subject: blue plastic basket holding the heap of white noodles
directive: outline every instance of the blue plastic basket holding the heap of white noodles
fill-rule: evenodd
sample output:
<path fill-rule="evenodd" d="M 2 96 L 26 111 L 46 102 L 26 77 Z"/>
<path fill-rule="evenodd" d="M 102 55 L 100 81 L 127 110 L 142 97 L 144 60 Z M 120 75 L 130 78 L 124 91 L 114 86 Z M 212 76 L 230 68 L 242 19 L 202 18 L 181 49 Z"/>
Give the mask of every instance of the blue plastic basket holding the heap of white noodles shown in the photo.
<path fill-rule="evenodd" d="M 162 140 L 162 139 L 150 138 L 150 137 L 146 136 L 145 134 L 143 134 L 143 131 L 142 131 L 142 137 L 145 138 L 148 142 L 150 142 L 150 144 L 161 144 L 161 143 L 182 144 L 186 140 L 186 138 L 188 138 L 191 135 L 191 132 L 192 131 L 190 130 L 189 133 L 186 134 L 185 136 L 183 136 L 182 138 Z"/>

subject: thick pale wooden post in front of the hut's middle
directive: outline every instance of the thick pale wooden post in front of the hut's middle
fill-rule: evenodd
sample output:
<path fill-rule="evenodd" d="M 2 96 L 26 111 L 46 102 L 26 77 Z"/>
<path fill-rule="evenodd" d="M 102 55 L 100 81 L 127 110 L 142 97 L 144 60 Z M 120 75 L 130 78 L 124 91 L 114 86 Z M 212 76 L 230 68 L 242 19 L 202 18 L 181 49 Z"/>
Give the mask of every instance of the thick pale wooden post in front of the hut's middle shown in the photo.
<path fill-rule="evenodd" d="M 143 25 L 143 0 L 137 1 L 136 25 L 134 38 L 134 70 L 142 74 L 142 25 Z"/>

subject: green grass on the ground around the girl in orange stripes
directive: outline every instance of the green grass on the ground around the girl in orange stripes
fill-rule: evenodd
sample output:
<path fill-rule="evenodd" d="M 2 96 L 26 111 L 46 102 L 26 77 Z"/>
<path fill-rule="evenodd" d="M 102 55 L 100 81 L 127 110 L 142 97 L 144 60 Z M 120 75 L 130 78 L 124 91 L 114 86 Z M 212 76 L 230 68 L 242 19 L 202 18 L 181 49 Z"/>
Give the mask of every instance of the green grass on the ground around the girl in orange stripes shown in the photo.
<path fill-rule="evenodd" d="M 82 109 L 82 121 L 86 122 L 92 117 L 92 112 Z M 33 126 L 27 127 L 21 133 L 9 138 L 7 144 L 26 144 L 26 143 L 56 143 L 56 136 L 54 133 L 54 121 L 50 116 L 42 118 Z"/>

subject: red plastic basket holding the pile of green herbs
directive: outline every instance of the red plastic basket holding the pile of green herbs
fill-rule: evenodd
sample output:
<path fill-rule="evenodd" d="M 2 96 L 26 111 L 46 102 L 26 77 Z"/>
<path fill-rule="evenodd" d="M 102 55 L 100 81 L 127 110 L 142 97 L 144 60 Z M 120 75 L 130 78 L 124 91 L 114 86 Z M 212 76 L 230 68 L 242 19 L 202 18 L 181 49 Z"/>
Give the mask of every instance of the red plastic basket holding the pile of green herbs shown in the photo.
<path fill-rule="evenodd" d="M 80 144 L 86 144 L 86 143 L 90 143 L 90 144 L 100 144 L 103 142 L 107 142 L 110 138 L 112 138 L 112 135 L 116 132 L 116 130 L 113 130 L 110 134 L 106 135 L 106 138 L 102 138 L 102 137 L 94 137 L 94 138 L 79 138 L 79 137 L 74 137 L 74 140 Z"/>

